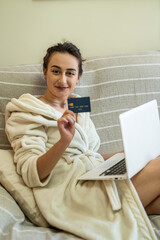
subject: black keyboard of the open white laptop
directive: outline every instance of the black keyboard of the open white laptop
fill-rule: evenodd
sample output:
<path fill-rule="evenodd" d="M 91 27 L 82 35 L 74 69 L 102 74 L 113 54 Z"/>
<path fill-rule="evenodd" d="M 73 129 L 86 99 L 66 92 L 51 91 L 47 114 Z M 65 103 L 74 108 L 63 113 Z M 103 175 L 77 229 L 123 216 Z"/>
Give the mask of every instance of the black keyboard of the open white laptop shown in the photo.
<path fill-rule="evenodd" d="M 102 172 L 99 176 L 106 176 L 106 175 L 121 175 L 126 173 L 126 164 L 125 158 L 113 165 L 112 167 L 108 168 L 106 171 Z"/>

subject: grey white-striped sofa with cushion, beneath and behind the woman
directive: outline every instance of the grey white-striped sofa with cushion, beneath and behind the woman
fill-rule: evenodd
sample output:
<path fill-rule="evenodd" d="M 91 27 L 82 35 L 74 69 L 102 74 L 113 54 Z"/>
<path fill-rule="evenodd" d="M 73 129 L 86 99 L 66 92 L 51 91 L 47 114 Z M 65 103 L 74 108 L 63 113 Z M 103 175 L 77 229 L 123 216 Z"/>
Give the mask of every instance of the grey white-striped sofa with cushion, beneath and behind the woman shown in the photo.
<path fill-rule="evenodd" d="M 118 116 L 157 99 L 160 105 L 160 52 L 94 57 L 84 63 L 75 92 L 91 97 L 91 118 L 101 139 L 99 152 L 123 149 Z M 80 239 L 50 228 L 36 206 L 32 190 L 16 173 L 5 135 L 5 106 L 23 93 L 42 95 L 41 64 L 0 67 L 0 239 Z M 28 204 L 28 199 L 31 204 Z M 160 216 L 150 216 L 160 239 Z"/>

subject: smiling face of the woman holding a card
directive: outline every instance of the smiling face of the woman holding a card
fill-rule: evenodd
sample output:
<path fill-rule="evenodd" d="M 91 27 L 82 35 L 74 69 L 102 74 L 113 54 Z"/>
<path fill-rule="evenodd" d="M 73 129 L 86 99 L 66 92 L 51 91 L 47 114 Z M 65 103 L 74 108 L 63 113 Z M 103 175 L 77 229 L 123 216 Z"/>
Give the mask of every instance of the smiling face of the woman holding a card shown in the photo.
<path fill-rule="evenodd" d="M 68 53 L 56 52 L 43 72 L 50 97 L 65 100 L 79 80 L 78 60 Z"/>

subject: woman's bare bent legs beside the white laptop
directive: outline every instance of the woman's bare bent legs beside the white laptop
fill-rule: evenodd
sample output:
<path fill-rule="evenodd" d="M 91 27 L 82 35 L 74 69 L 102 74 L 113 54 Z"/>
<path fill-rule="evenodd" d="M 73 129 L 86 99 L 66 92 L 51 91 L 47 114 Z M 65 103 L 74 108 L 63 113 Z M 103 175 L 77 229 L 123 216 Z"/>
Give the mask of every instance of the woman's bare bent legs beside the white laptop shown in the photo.
<path fill-rule="evenodd" d="M 148 214 L 160 214 L 160 158 L 150 161 L 132 179 Z"/>

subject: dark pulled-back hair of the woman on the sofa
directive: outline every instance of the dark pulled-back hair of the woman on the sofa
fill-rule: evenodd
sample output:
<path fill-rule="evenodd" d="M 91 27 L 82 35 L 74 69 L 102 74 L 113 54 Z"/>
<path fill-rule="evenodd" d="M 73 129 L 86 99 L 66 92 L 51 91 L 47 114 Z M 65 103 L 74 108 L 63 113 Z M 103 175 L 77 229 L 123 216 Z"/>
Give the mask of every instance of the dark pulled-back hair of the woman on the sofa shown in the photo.
<path fill-rule="evenodd" d="M 43 68 L 47 69 L 49 60 L 53 53 L 59 52 L 59 53 L 69 53 L 72 56 L 76 57 L 78 60 L 78 67 L 79 67 L 79 75 L 81 76 L 83 73 L 82 69 L 82 62 L 84 61 L 82 59 L 80 50 L 72 43 L 70 42 L 64 42 L 64 43 L 57 43 L 56 45 L 50 47 L 47 49 L 47 53 L 45 57 L 43 58 Z"/>

